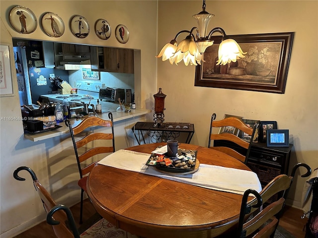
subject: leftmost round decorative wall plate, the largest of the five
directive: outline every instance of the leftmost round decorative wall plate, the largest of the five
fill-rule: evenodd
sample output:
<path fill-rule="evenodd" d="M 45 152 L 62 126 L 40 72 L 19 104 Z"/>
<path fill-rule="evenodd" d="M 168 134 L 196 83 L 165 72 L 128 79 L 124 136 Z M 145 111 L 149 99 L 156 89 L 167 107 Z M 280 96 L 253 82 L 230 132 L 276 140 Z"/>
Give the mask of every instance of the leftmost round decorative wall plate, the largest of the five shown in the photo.
<path fill-rule="evenodd" d="M 34 13 L 25 6 L 13 7 L 9 20 L 14 30 L 22 34 L 32 33 L 38 24 Z"/>

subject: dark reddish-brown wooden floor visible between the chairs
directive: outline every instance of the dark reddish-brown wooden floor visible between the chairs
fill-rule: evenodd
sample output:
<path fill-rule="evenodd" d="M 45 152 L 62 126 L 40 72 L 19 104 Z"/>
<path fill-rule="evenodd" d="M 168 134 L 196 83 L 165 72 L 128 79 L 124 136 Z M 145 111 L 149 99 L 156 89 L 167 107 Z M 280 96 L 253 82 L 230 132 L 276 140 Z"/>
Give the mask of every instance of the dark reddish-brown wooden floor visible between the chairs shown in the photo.
<path fill-rule="evenodd" d="M 95 213 L 95 210 L 88 199 L 84 201 L 83 208 L 83 221 L 85 221 Z M 76 224 L 79 227 L 79 203 L 71 207 L 71 210 Z M 279 225 L 286 229 L 294 237 L 304 238 L 305 232 L 303 231 L 303 229 L 307 222 L 307 218 L 301 219 L 302 215 L 302 210 L 286 206 L 284 214 L 279 221 Z M 53 233 L 52 227 L 46 222 L 42 222 L 41 224 L 21 233 L 15 238 L 42 238 L 44 237 L 44 234 L 45 238 L 56 238 Z"/>

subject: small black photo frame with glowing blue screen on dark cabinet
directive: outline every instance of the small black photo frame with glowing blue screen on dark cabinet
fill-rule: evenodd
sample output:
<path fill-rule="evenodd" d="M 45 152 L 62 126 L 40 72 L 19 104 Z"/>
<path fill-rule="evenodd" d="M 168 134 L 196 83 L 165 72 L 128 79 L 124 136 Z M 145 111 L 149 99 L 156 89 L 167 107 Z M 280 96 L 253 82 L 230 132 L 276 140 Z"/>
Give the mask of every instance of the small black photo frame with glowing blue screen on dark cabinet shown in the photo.
<path fill-rule="evenodd" d="M 267 147 L 288 147 L 289 146 L 289 130 L 266 130 Z"/>

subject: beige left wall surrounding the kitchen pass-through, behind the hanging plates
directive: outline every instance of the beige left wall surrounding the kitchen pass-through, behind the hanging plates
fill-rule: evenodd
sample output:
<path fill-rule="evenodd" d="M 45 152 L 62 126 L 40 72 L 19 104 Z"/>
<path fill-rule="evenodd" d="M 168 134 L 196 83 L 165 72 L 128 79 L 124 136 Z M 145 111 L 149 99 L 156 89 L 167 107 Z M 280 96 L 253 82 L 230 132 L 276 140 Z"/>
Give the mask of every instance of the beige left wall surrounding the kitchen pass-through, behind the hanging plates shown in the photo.
<path fill-rule="evenodd" d="M 26 6 L 36 15 L 38 27 L 33 33 L 20 34 L 8 23 L 9 12 L 15 5 Z M 57 13 L 64 20 L 66 30 L 60 38 L 51 38 L 41 30 L 39 20 L 47 11 Z M 84 39 L 73 36 L 69 28 L 69 21 L 75 14 L 83 15 L 90 24 L 90 34 Z M 135 56 L 141 62 L 141 66 L 135 70 L 138 75 L 135 75 L 135 94 L 138 95 L 136 104 L 138 107 L 152 108 L 151 93 L 157 90 L 157 1 L 1 0 L 0 16 L 0 41 L 10 43 L 11 47 L 12 37 L 17 37 L 139 49 L 140 54 Z M 112 35 L 109 40 L 100 40 L 94 33 L 94 23 L 99 18 L 105 18 L 111 25 Z M 114 32 L 118 24 L 126 25 L 130 31 L 130 38 L 126 44 L 120 44 L 115 38 Z M 13 57 L 11 59 L 13 60 Z M 14 74 L 13 81 L 16 82 Z M 17 87 L 14 89 L 17 94 Z M 20 116 L 18 96 L 0 98 L 0 117 Z M 137 145 L 131 131 L 135 120 L 146 118 L 137 117 L 115 122 L 116 150 Z M 32 186 L 30 176 L 22 173 L 21 175 L 26 178 L 24 182 L 13 179 L 12 173 L 19 166 L 34 169 L 38 179 L 58 203 L 71 206 L 79 202 L 79 174 L 68 135 L 32 142 L 24 139 L 20 120 L 0 120 L 0 147 L 1 238 L 13 237 L 44 220 L 44 209 Z"/>

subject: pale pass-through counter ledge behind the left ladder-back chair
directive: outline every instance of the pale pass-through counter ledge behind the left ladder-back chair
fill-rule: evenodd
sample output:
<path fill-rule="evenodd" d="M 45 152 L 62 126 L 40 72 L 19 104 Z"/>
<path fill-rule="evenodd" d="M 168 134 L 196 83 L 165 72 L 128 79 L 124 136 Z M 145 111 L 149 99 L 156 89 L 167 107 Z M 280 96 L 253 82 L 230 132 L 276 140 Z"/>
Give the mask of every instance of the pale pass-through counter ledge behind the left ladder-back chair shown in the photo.
<path fill-rule="evenodd" d="M 142 115 L 146 115 L 150 113 L 151 110 L 146 110 L 146 109 L 132 109 L 131 112 L 125 113 L 125 112 L 112 112 L 113 114 L 113 120 L 114 122 L 116 121 L 121 121 L 125 119 L 130 119 L 130 118 L 135 118 L 139 117 Z M 88 116 L 85 116 L 88 117 Z M 81 119 L 70 119 L 72 127 L 77 126 L 85 117 Z M 102 114 L 96 114 L 96 117 L 109 120 L 108 118 L 108 113 L 102 113 Z M 65 125 L 65 121 L 57 123 L 58 125 L 61 125 L 62 127 L 57 128 L 55 130 L 50 130 L 38 134 L 32 134 L 32 133 L 24 133 L 24 138 L 32 140 L 32 141 L 40 141 L 40 140 L 45 140 L 48 138 L 56 137 L 56 136 L 61 136 L 63 134 L 67 134 L 70 132 L 69 127 Z M 114 123 L 115 124 L 115 123 Z"/>

